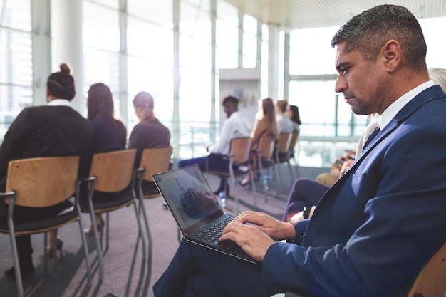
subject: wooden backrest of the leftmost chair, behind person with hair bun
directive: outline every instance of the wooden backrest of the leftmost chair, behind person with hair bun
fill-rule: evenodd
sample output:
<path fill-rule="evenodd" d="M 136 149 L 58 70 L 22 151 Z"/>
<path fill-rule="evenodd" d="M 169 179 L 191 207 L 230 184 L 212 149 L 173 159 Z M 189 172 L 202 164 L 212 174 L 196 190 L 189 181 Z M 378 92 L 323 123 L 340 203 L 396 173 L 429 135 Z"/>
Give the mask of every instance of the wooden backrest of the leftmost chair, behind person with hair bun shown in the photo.
<path fill-rule="evenodd" d="M 76 192 L 78 167 L 78 156 L 13 160 L 8 166 L 6 192 L 15 190 L 15 204 L 23 207 L 61 203 Z"/>

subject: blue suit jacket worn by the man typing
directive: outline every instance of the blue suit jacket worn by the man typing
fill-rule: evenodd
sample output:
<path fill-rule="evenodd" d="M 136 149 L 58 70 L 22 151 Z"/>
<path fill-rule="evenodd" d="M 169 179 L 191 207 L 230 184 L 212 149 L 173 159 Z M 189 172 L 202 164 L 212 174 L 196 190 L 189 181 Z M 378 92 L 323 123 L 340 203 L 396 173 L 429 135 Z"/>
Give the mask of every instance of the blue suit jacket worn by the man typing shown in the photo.
<path fill-rule="evenodd" d="M 405 296 L 445 241 L 446 95 L 435 85 L 326 192 L 301 246 L 271 246 L 262 275 L 313 296 Z"/>

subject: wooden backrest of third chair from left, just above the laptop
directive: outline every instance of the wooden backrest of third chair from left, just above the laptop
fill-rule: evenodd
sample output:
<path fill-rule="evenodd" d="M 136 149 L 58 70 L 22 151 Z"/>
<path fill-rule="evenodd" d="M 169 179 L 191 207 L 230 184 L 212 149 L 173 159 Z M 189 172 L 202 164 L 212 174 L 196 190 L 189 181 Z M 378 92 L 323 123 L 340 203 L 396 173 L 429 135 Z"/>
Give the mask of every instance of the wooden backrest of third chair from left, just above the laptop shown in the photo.
<path fill-rule="evenodd" d="M 155 147 L 142 150 L 140 167 L 145 167 L 145 180 L 153 182 L 152 174 L 169 170 L 172 150 L 172 147 Z"/>

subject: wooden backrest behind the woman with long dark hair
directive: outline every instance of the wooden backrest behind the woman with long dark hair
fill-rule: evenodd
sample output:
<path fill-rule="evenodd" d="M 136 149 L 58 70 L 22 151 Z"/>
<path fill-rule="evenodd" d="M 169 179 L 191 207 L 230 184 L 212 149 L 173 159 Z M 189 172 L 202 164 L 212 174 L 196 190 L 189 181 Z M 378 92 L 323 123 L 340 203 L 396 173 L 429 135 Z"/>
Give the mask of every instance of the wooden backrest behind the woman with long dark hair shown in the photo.
<path fill-rule="evenodd" d="M 133 177 L 136 149 L 100 152 L 91 160 L 90 177 L 96 177 L 95 190 L 120 192 Z"/>

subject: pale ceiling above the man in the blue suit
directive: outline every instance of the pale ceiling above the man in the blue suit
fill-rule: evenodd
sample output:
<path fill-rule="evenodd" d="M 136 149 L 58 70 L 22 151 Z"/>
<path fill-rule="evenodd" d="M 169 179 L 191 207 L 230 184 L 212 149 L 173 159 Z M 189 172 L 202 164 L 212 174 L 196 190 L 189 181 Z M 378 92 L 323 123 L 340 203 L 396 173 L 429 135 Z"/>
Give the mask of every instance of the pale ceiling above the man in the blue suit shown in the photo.
<path fill-rule="evenodd" d="M 225 0 L 264 24 L 287 31 L 341 26 L 352 16 L 380 4 L 407 7 L 418 18 L 446 16 L 445 0 Z"/>

